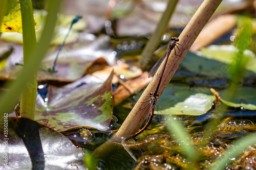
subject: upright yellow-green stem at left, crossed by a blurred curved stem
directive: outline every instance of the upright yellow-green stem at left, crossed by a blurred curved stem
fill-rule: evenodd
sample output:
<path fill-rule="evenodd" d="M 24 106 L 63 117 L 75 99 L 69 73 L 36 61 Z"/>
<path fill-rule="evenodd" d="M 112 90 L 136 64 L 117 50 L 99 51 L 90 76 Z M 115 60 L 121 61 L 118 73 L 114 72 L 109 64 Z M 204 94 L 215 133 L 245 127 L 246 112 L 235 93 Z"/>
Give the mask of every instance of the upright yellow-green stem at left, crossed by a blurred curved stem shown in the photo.
<path fill-rule="evenodd" d="M 24 67 L 27 67 L 27 62 L 32 51 L 36 46 L 35 37 L 35 21 L 33 15 L 32 2 L 20 0 L 20 9 L 22 11 L 22 28 L 23 28 L 23 59 Z M 20 116 L 34 119 L 35 117 L 35 102 L 37 93 L 37 74 L 34 74 L 33 80 L 27 82 L 27 86 L 22 92 L 20 101 Z"/>

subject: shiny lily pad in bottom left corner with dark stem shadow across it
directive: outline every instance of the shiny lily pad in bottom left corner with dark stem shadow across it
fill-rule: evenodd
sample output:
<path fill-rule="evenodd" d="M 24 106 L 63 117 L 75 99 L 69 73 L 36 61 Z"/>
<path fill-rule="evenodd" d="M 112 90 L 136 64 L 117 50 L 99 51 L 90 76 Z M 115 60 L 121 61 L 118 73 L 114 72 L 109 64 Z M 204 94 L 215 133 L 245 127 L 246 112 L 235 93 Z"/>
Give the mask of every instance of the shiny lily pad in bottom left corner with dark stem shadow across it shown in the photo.
<path fill-rule="evenodd" d="M 8 117 L 7 133 L 4 127 L 1 169 L 86 169 L 83 152 L 59 132 L 23 117 Z"/>

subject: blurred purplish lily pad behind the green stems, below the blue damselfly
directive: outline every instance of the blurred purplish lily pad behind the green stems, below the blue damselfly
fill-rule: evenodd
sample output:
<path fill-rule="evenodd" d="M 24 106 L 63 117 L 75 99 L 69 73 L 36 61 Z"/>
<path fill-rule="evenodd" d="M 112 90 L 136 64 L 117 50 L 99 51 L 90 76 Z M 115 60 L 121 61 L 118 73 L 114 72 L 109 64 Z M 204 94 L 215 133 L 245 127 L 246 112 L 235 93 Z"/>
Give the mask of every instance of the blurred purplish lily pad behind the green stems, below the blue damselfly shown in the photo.
<path fill-rule="evenodd" d="M 3 43 L 0 42 L 0 44 Z M 22 53 L 22 46 L 14 46 L 14 54 L 9 57 L 5 67 L 0 71 L 0 78 L 15 79 L 17 77 L 23 66 L 13 64 L 15 61 L 20 63 L 20 59 L 22 59 L 20 54 Z M 57 52 L 47 56 L 42 61 L 41 69 L 48 70 L 52 68 L 56 55 Z M 81 78 L 94 63 L 104 63 L 106 65 L 108 62 L 108 64 L 113 64 L 115 55 L 116 53 L 113 53 L 109 40 L 104 36 L 100 36 L 93 42 L 92 40 L 81 40 L 77 44 L 63 47 L 56 63 L 57 72 L 52 74 L 38 71 L 38 81 L 73 82 Z"/>

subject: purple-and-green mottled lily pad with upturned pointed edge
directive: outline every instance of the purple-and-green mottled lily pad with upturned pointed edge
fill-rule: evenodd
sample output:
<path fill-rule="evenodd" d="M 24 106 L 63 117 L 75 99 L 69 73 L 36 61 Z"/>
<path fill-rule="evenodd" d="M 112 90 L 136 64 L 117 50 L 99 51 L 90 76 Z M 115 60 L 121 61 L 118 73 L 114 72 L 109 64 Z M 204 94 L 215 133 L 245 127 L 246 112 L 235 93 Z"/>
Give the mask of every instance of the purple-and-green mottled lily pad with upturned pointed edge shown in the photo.
<path fill-rule="evenodd" d="M 48 87 L 48 106 L 37 106 L 35 120 L 57 130 L 74 127 L 92 127 L 104 130 L 113 115 L 112 80 L 101 83 L 95 77 L 85 76 L 71 84 Z"/>

